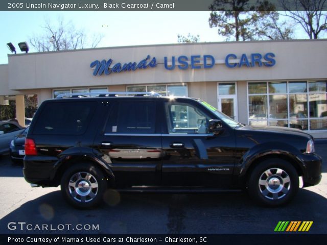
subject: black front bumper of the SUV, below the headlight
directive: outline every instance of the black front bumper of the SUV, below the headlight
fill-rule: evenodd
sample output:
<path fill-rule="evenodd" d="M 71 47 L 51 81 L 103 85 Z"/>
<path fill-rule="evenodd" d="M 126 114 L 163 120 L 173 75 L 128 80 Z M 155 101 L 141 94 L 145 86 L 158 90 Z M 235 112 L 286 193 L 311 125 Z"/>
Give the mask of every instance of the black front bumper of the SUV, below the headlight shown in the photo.
<path fill-rule="evenodd" d="M 300 154 L 297 158 L 302 162 L 303 187 L 319 184 L 321 181 L 322 159 L 315 153 Z"/>

